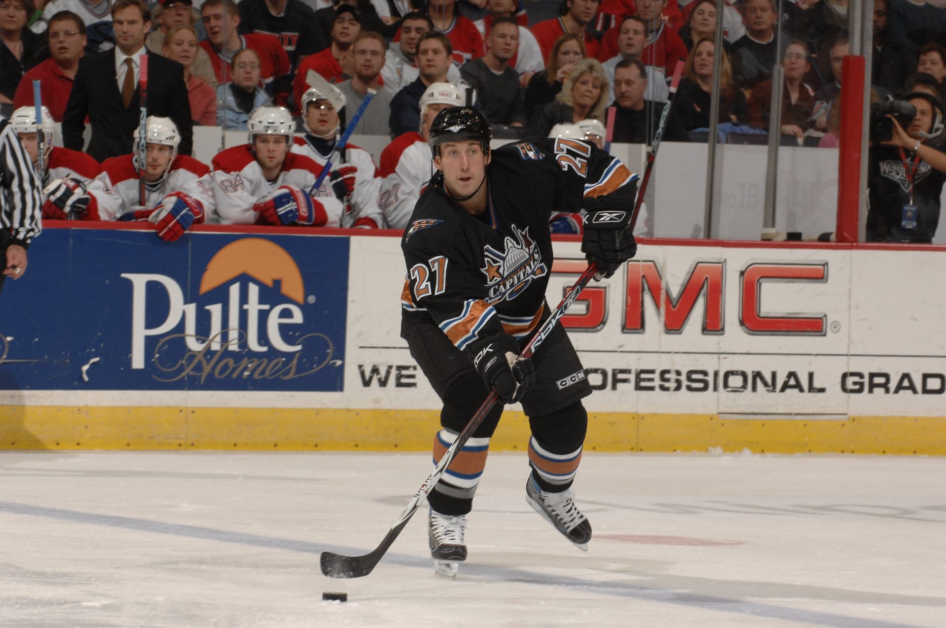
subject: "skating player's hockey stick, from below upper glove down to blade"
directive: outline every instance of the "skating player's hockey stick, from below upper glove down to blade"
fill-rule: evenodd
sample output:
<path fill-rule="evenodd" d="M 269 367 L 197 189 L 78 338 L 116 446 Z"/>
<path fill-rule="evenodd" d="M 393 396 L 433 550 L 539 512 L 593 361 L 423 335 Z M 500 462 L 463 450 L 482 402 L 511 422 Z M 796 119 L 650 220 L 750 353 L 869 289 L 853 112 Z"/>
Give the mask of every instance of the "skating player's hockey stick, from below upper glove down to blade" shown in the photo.
<path fill-rule="evenodd" d="M 588 264 L 585 272 L 583 272 L 574 285 L 569 288 L 565 298 L 555 307 L 549 319 L 542 324 L 538 333 L 534 335 L 533 339 L 526 345 L 526 348 L 522 350 L 522 358 L 532 357 L 538 345 L 552 333 L 555 323 L 558 323 L 561 318 L 565 316 L 565 312 L 569 309 L 571 304 L 575 302 L 575 299 L 578 298 L 578 295 L 581 294 L 581 291 L 587 286 L 588 281 L 591 280 L 597 271 L 598 267 L 596 267 L 594 263 Z M 384 535 L 381 544 L 377 546 L 374 551 L 370 551 L 361 556 L 342 556 L 342 554 L 324 551 L 319 557 L 319 565 L 322 567 L 322 573 L 329 578 L 361 578 L 371 573 L 372 569 L 377 566 L 388 548 L 394 543 L 394 539 L 397 538 L 397 535 L 404 530 L 404 527 L 408 525 L 408 521 L 411 520 L 413 514 L 417 512 L 417 509 L 420 508 L 421 504 L 427 496 L 429 496 L 430 491 L 436 486 L 437 481 L 440 480 L 447 471 L 447 466 L 449 466 L 450 462 L 453 462 L 460 448 L 469 440 L 473 432 L 476 431 L 476 428 L 480 427 L 483 419 L 486 418 L 489 410 L 493 409 L 493 406 L 496 405 L 498 400 L 499 394 L 494 389 L 489 393 L 489 396 L 486 397 L 486 400 L 482 402 L 480 410 L 476 411 L 476 414 L 474 414 L 473 418 L 466 424 L 464 430 L 457 436 L 457 440 L 447 449 L 447 453 L 440 459 L 440 462 L 437 462 L 437 466 L 434 467 L 433 472 L 427 477 L 427 480 L 424 480 L 424 483 L 421 484 L 417 492 L 414 493 L 407 508 L 404 509 L 404 512 L 401 513 L 401 515 L 397 517 L 397 521 L 394 522 L 394 527 Z"/>

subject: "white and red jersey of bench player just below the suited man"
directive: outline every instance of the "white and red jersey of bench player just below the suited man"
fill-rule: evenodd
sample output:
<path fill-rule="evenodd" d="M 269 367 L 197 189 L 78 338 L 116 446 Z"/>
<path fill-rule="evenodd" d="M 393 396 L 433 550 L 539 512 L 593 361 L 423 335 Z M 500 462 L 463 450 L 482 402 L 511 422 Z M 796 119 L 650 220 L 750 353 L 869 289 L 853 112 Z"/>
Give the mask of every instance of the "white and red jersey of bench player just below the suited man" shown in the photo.
<path fill-rule="evenodd" d="M 210 169 L 193 157 L 178 155 L 161 181 L 145 187 L 145 209 L 154 209 L 171 192 L 184 192 L 203 208 L 204 221 L 214 214 L 214 193 Z M 106 159 L 102 171 L 88 186 L 87 218 L 117 220 L 129 212 L 142 209 L 138 204 L 138 171 L 134 155 Z"/>

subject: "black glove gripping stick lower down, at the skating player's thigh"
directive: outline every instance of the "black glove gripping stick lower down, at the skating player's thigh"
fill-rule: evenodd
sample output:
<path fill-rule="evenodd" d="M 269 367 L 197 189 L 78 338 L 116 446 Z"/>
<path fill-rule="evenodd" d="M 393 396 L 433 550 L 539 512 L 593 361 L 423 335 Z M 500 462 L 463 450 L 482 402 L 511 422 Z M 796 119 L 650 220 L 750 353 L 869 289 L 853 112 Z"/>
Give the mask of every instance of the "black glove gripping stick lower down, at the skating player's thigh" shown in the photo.
<path fill-rule="evenodd" d="M 470 346 L 473 365 L 486 384 L 496 389 L 502 403 L 513 404 L 522 399 L 535 383 L 535 365 L 529 358 L 519 358 L 519 345 L 512 336 L 499 334 Z"/>

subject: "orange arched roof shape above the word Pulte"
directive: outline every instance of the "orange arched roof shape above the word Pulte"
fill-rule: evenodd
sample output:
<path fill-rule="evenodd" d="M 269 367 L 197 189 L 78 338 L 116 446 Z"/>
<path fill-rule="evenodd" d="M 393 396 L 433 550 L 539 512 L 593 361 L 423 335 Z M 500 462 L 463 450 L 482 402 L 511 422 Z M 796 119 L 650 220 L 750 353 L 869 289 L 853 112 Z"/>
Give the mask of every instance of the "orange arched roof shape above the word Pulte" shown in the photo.
<path fill-rule="evenodd" d="M 261 237 L 247 237 L 231 242 L 207 263 L 201 277 L 201 294 L 233 281 L 241 274 L 248 274 L 270 288 L 280 282 L 283 296 L 302 304 L 306 288 L 302 284 L 302 273 L 295 260 L 286 250 Z"/>

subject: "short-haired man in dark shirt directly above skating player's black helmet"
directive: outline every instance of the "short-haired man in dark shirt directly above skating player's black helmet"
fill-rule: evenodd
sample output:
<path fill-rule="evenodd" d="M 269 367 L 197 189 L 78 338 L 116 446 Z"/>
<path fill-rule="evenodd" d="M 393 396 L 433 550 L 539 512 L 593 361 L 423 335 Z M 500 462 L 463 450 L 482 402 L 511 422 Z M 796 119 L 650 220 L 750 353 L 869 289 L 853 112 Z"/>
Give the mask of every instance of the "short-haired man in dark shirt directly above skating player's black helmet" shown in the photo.
<path fill-rule="evenodd" d="M 511 17 L 493 22 L 486 36 L 486 56 L 467 61 L 460 74 L 477 93 L 477 109 L 490 124 L 524 127 L 528 118 L 522 102 L 519 74 L 509 66 L 519 44 L 519 25 Z"/>

